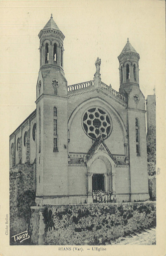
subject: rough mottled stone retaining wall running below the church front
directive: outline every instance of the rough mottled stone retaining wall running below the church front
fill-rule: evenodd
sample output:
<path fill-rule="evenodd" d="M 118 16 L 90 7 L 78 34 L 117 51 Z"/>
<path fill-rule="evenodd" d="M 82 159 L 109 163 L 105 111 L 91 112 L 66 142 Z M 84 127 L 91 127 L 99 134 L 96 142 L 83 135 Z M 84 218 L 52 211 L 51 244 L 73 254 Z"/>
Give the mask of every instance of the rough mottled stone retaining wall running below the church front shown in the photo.
<path fill-rule="evenodd" d="M 31 226 L 39 223 L 36 214 L 33 211 Z M 156 203 L 47 205 L 43 216 L 45 244 L 78 245 L 86 239 L 90 245 L 111 244 L 122 235 L 156 226 Z M 36 233 L 32 233 L 35 243 Z"/>

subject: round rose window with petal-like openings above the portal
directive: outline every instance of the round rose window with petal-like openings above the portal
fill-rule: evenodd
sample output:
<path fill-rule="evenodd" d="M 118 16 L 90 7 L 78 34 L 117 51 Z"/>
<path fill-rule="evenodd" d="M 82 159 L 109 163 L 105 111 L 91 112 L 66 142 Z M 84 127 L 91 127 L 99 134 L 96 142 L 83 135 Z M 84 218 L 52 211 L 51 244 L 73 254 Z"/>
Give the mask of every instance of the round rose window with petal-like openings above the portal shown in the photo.
<path fill-rule="evenodd" d="M 90 138 L 96 139 L 100 135 L 107 138 L 111 132 L 111 118 L 102 109 L 91 108 L 84 114 L 83 128 Z"/>

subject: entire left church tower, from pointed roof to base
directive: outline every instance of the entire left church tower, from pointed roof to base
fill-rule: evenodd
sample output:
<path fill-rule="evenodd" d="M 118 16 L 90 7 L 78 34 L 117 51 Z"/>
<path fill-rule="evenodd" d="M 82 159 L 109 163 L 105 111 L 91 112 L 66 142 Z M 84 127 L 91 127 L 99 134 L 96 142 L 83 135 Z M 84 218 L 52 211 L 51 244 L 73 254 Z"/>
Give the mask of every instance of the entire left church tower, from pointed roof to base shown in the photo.
<path fill-rule="evenodd" d="M 68 97 L 63 71 L 65 36 L 52 14 L 38 36 L 40 69 L 36 86 L 36 203 L 42 205 L 48 201 L 54 203 L 55 198 L 58 200 L 68 194 Z"/>

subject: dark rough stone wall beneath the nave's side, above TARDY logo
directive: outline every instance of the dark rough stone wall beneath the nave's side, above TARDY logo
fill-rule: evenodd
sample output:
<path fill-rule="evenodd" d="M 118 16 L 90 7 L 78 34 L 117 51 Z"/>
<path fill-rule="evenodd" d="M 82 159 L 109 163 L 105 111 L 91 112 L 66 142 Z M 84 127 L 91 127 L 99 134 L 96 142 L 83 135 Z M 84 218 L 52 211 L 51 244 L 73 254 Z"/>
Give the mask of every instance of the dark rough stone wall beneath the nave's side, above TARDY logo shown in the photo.
<path fill-rule="evenodd" d="M 16 164 L 10 169 L 10 244 L 12 235 L 28 229 L 30 221 L 30 206 L 35 205 L 33 164 Z M 25 240 L 24 244 L 29 242 Z"/>

